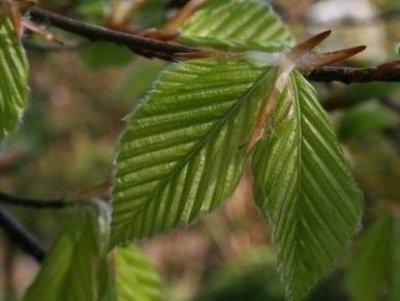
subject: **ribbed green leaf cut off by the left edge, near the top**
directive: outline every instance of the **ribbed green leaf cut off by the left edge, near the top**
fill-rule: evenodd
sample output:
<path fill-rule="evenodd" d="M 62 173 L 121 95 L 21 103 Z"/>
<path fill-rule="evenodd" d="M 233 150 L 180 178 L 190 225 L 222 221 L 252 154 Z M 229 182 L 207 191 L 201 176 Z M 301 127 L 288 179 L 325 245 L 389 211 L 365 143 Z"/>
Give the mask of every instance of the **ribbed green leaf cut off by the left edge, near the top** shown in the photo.
<path fill-rule="evenodd" d="M 10 20 L 0 12 L 0 140 L 21 120 L 28 92 L 28 62 Z"/>

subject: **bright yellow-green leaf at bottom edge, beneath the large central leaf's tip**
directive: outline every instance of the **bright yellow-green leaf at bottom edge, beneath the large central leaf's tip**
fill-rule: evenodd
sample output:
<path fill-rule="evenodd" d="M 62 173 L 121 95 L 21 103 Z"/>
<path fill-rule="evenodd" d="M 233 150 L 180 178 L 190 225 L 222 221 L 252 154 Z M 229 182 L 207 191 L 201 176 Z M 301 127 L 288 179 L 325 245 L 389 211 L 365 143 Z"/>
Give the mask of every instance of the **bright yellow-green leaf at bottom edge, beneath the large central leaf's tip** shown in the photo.
<path fill-rule="evenodd" d="M 139 248 L 116 248 L 114 263 L 118 301 L 162 300 L 161 278 Z"/>

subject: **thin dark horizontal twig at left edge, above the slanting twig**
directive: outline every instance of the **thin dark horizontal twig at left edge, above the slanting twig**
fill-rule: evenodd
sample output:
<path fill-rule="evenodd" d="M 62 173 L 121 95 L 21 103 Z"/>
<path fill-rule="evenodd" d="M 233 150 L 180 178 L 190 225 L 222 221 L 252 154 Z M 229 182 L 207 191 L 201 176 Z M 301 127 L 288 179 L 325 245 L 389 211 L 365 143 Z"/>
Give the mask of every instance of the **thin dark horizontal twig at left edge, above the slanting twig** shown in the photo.
<path fill-rule="evenodd" d="M 75 205 L 73 202 L 66 202 L 63 199 L 33 199 L 24 198 L 0 192 L 0 203 L 7 205 L 16 205 L 34 209 L 62 209 Z"/>

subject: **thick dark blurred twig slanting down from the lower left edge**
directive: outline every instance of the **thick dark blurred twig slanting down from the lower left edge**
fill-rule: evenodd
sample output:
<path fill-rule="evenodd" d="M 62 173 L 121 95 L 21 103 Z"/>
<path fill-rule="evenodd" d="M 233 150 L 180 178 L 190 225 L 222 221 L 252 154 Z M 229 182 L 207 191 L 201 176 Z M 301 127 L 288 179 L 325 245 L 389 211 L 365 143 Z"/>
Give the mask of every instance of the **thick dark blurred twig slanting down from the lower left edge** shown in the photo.
<path fill-rule="evenodd" d="M 3 228 L 9 241 L 38 262 L 42 262 L 46 251 L 42 244 L 27 229 L 0 205 L 0 227 Z"/>

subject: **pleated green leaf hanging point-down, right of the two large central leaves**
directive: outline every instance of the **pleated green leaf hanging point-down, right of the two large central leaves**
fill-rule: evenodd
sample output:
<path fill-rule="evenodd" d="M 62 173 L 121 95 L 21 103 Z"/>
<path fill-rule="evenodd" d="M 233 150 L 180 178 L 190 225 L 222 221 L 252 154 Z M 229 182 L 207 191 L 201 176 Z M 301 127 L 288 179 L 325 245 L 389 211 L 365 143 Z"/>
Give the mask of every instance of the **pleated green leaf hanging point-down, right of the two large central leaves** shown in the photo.
<path fill-rule="evenodd" d="M 361 195 L 316 92 L 300 73 L 291 75 L 269 127 L 253 156 L 254 195 L 274 227 L 286 294 L 301 300 L 347 246 Z"/>

